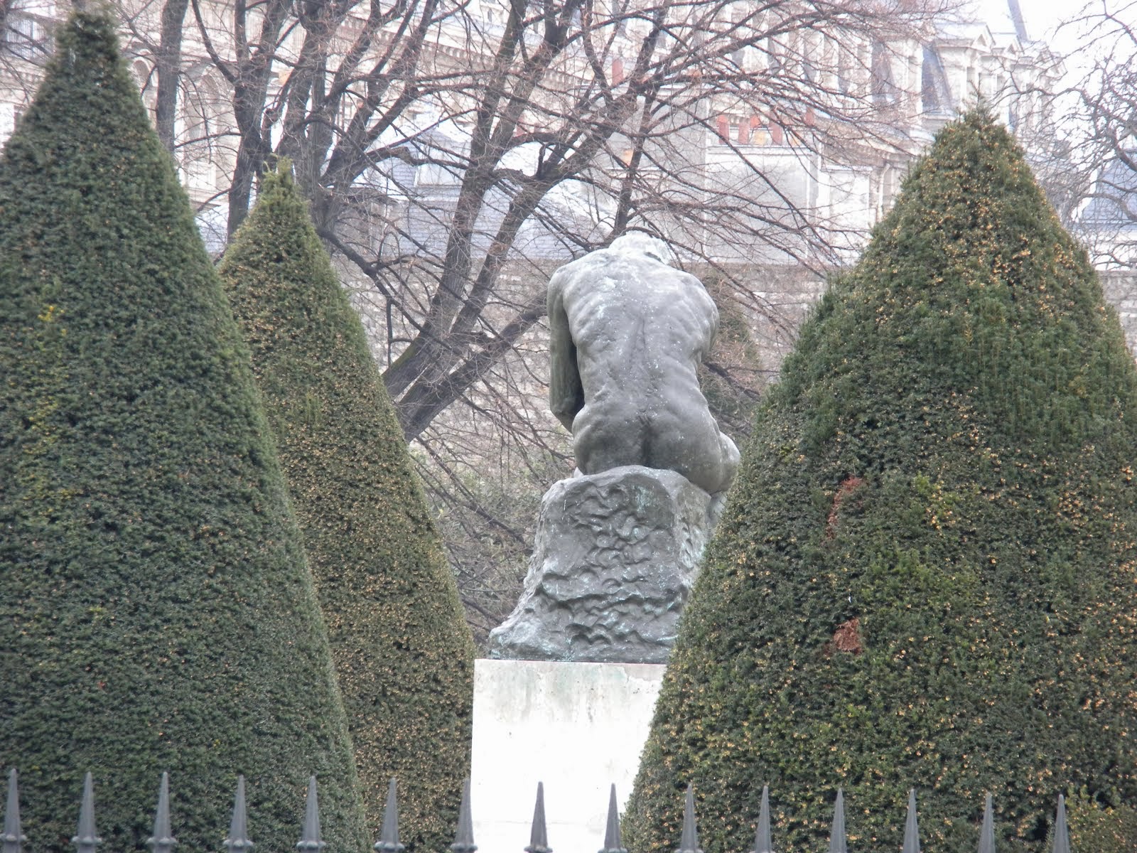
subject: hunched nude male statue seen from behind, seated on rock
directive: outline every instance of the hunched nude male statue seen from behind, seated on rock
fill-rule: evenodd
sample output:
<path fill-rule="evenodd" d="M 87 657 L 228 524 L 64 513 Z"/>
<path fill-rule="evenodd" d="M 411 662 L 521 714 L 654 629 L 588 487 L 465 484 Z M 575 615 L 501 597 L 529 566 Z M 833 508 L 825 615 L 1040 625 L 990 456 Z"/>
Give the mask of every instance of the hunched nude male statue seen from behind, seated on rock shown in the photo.
<path fill-rule="evenodd" d="M 703 283 L 632 233 L 549 281 L 549 407 L 573 433 L 576 466 L 678 471 L 712 495 L 738 467 L 696 374 L 719 330 Z"/>

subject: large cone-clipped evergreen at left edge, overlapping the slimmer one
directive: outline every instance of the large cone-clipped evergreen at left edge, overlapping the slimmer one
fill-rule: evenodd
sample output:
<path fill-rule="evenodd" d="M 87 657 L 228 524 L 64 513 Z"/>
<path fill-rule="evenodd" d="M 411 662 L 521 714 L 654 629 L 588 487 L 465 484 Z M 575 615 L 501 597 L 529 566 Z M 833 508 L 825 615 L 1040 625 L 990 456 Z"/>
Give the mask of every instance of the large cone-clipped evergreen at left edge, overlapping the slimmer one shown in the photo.
<path fill-rule="evenodd" d="M 68 851 L 83 772 L 108 851 L 257 850 L 321 785 L 366 850 L 327 636 L 248 349 L 105 14 L 77 13 L 0 159 L 0 765 Z"/>

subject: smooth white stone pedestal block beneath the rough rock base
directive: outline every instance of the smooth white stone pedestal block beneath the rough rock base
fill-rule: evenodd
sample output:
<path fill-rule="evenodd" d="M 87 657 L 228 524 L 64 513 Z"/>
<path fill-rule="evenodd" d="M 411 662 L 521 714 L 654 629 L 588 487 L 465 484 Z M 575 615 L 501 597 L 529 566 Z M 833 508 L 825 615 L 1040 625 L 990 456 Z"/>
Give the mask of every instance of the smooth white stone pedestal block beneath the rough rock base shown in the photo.
<path fill-rule="evenodd" d="M 632 793 L 664 666 L 632 663 L 474 662 L 471 805 L 485 853 L 529 843 L 545 782 L 549 846 L 604 846 L 608 786 Z"/>

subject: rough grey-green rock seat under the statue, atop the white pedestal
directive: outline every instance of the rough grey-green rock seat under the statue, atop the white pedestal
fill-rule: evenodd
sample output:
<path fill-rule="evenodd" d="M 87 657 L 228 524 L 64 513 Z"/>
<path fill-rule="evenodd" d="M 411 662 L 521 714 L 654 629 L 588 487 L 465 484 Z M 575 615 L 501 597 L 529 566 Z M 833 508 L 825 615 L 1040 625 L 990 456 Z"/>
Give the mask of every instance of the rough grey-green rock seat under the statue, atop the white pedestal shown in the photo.
<path fill-rule="evenodd" d="M 628 465 L 545 495 L 525 590 L 490 656 L 665 663 L 716 511 L 674 471 Z"/>

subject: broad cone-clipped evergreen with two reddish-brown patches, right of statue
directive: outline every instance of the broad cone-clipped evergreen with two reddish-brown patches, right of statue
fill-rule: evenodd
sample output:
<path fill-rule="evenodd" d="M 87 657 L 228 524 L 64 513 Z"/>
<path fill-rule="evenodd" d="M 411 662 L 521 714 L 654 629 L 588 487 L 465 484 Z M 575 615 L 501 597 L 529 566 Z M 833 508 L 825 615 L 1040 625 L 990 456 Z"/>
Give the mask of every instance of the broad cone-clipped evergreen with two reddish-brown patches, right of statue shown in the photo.
<path fill-rule="evenodd" d="M 1137 802 L 1137 371 L 1006 132 L 949 125 L 756 419 L 626 823 L 744 850 L 1043 847 L 1060 792 Z M 1073 826 L 1076 818 L 1071 818 Z M 1137 838 L 1129 838 L 1129 848 Z"/>

